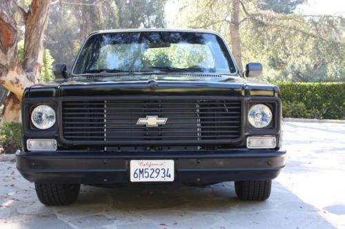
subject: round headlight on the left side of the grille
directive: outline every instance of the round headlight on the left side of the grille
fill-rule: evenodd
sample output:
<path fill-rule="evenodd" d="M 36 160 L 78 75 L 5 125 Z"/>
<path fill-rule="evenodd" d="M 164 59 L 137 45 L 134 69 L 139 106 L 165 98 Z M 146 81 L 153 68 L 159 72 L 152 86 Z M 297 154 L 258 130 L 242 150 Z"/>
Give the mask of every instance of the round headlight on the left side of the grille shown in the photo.
<path fill-rule="evenodd" d="M 31 112 L 31 122 L 38 129 L 49 129 L 55 124 L 55 111 L 48 105 L 39 105 Z"/>

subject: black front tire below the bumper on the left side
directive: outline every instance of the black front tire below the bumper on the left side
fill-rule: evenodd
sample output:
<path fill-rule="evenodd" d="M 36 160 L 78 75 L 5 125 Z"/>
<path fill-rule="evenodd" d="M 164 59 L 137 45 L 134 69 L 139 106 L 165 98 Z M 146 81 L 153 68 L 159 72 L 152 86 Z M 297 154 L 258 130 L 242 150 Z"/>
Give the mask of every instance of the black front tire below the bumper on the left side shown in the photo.
<path fill-rule="evenodd" d="M 55 184 L 34 182 L 39 201 L 46 206 L 72 204 L 77 200 L 80 184 Z"/>

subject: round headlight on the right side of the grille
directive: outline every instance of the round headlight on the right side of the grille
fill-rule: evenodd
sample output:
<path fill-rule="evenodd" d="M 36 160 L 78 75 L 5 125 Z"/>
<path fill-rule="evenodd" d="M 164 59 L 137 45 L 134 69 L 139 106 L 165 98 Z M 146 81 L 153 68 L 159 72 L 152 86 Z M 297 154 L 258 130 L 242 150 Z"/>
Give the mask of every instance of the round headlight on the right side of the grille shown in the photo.
<path fill-rule="evenodd" d="M 270 108 L 263 104 L 253 105 L 248 113 L 249 123 L 256 128 L 264 128 L 272 121 L 272 111 Z"/>

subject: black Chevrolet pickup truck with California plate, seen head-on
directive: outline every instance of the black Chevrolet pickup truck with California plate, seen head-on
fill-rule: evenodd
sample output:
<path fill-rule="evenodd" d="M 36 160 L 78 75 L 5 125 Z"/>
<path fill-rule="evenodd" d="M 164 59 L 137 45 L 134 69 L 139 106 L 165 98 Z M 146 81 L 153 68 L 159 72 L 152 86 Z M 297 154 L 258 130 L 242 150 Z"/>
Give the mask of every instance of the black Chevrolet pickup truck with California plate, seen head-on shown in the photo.
<path fill-rule="evenodd" d="M 264 200 L 285 166 L 279 88 L 240 74 L 228 45 L 200 30 L 104 30 L 72 67 L 23 93 L 17 168 L 46 205 L 81 184 L 235 182 Z"/>

